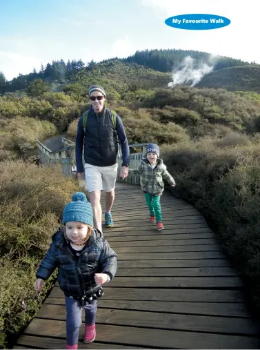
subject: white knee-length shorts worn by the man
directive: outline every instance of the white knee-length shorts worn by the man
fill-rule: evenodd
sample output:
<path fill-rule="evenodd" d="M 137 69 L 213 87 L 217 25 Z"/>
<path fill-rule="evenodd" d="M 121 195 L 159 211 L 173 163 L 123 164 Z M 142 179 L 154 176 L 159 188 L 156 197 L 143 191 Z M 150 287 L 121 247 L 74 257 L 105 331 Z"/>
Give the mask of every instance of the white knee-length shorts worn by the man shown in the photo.
<path fill-rule="evenodd" d="M 117 181 L 117 163 L 110 166 L 85 164 L 84 168 L 88 192 L 114 190 Z"/>

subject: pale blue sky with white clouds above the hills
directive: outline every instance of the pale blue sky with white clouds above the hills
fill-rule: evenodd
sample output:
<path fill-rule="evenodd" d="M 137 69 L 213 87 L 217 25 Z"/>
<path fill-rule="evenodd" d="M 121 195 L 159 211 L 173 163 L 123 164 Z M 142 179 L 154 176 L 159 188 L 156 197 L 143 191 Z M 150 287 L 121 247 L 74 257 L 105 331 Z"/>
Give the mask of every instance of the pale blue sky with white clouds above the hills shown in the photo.
<path fill-rule="evenodd" d="M 12 79 L 52 60 L 127 57 L 136 50 L 200 50 L 256 61 L 258 14 L 252 0 L 0 0 L 0 71 Z M 180 30 L 177 14 L 228 17 L 217 30 Z"/>

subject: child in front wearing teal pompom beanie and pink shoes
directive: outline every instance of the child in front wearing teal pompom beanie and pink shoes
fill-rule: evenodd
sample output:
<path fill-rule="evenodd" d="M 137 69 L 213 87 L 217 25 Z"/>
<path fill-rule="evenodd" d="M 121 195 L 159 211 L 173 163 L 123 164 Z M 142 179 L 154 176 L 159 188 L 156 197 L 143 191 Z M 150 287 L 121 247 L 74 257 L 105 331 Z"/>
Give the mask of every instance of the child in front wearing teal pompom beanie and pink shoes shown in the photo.
<path fill-rule="evenodd" d="M 43 282 L 58 267 L 58 282 L 66 299 L 66 349 L 77 349 L 82 310 L 85 309 L 84 342 L 94 341 L 97 298 L 103 295 L 101 284 L 114 278 L 117 254 L 97 229 L 93 229 L 92 206 L 86 195 L 77 192 L 63 211 L 63 228 L 52 236 L 52 243 L 35 282 L 41 291 Z"/>

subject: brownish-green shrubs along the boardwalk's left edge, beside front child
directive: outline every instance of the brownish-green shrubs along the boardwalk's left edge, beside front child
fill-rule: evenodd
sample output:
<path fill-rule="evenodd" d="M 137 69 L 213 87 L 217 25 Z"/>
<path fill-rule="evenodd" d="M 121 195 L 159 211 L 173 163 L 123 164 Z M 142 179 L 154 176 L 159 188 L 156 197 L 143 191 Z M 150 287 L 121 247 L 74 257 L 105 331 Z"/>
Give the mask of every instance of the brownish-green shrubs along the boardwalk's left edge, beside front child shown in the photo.
<path fill-rule="evenodd" d="M 0 188 L 0 347 L 10 347 L 52 284 L 37 296 L 35 272 L 61 225 L 64 205 L 80 190 L 60 166 L 21 160 L 0 162 Z"/>

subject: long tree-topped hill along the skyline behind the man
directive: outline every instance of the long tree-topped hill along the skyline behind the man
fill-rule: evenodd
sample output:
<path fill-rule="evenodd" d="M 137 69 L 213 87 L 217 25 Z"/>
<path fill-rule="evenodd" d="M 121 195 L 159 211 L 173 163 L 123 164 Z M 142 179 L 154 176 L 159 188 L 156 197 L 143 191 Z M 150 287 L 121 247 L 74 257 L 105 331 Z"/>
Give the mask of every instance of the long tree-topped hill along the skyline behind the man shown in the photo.
<path fill-rule="evenodd" d="M 92 60 L 84 63 L 81 59 L 78 61 L 73 59 L 65 63 L 60 59 L 48 63 L 45 67 L 42 65 L 39 72 L 34 69 L 28 75 L 19 74 L 11 81 L 6 80 L 0 67 L 0 94 L 26 90 L 30 82 L 37 79 L 43 79 L 50 85 L 52 91 L 62 91 L 64 85 L 74 82 L 89 86 L 97 80 L 100 80 L 100 84 L 108 86 L 108 89 L 115 89 L 119 93 L 139 88 L 165 87 L 170 81 L 172 70 L 179 67 L 183 59 L 188 56 L 192 59 L 194 69 L 201 67 L 201 64 L 208 64 L 208 66 L 214 64 L 214 71 L 250 65 L 250 62 L 241 61 L 241 59 L 212 57 L 208 52 L 176 49 L 142 50 L 125 59 L 115 57 L 101 62 Z M 79 86 L 74 88 L 79 90 Z M 84 86 L 81 90 L 82 88 L 84 90 Z"/>

